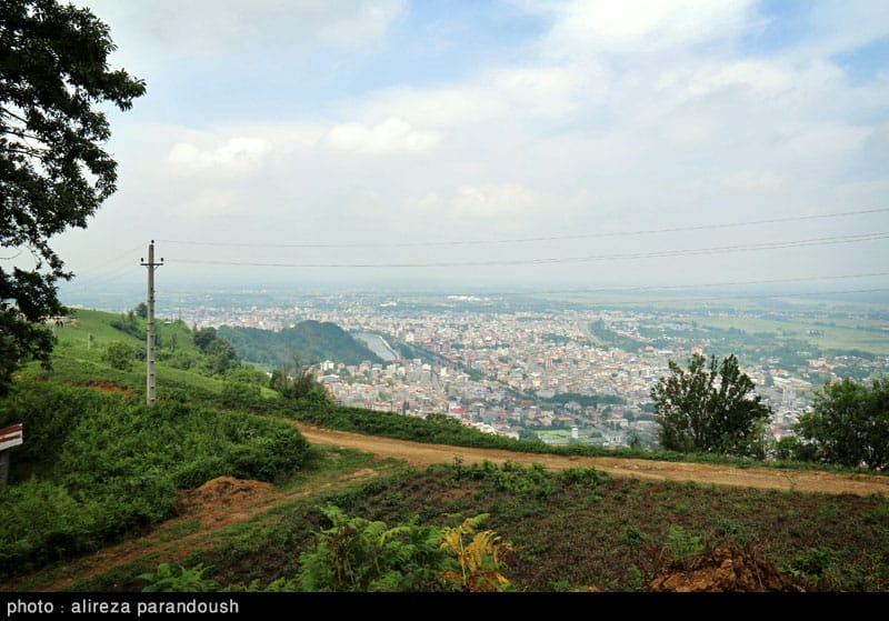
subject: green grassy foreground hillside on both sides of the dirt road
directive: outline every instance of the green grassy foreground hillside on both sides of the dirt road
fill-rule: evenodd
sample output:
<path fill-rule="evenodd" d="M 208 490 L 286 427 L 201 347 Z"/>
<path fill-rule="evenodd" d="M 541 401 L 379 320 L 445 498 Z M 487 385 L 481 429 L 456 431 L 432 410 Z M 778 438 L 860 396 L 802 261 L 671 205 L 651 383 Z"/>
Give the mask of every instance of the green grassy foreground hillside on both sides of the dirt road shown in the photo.
<path fill-rule="evenodd" d="M 284 400 L 249 369 L 213 375 L 180 323 L 159 327 L 158 402 L 149 407 L 140 328 L 138 319 L 78 311 L 76 323 L 56 328 L 53 370 L 27 367 L 0 401 L 0 425 L 24 422 L 27 438 L 0 490 L 0 590 L 326 590 L 326 563 L 336 559 L 319 545 L 346 524 L 376 533 L 364 543 L 390 545 L 370 565 L 349 560 L 366 572 L 351 588 L 428 589 L 422 563 L 455 569 L 430 541 L 478 519 L 479 532 L 509 543 L 498 570 L 512 590 L 645 591 L 673 562 L 690 567 L 721 547 L 762 558 L 807 590 L 889 591 L 886 498 L 618 480 L 592 469 L 416 471 L 309 445 L 288 420 L 439 443 L 569 449 L 449 419 Z M 119 342 L 134 350 L 129 369 L 107 357 Z M 241 481 L 257 495 L 212 487 L 218 481 Z M 103 548 L 109 553 L 97 554 Z M 96 568 L 102 558 L 113 562 Z M 408 571 L 406 559 L 419 564 Z M 388 573 L 374 574 L 390 561 Z"/>

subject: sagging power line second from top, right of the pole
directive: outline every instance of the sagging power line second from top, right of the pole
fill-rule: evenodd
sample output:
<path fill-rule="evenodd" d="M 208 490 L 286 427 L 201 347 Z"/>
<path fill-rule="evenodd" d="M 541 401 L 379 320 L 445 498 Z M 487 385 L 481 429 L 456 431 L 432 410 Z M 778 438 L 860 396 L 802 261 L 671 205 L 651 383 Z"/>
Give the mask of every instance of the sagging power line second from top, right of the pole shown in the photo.
<path fill-rule="evenodd" d="M 211 261 L 200 259 L 178 259 L 170 258 L 171 261 L 180 263 L 191 263 L 201 266 L 227 266 L 227 267 L 251 267 L 251 268 L 300 268 L 300 269 L 339 269 L 339 268 L 468 268 L 468 267 L 495 267 L 495 266 L 532 266 L 551 263 L 580 263 L 591 261 L 612 261 L 628 259 L 658 259 L 667 257 L 692 257 L 700 254 L 719 254 L 731 252 L 749 252 L 760 250 L 779 250 L 786 248 L 803 248 L 810 246 L 831 246 L 840 243 L 856 243 L 861 241 L 873 241 L 889 238 L 889 232 L 863 233 L 852 236 L 836 236 L 827 238 L 811 238 L 793 241 L 761 242 L 739 246 L 722 246 L 716 248 L 692 248 L 682 250 L 658 250 L 648 252 L 630 252 L 618 254 L 593 254 L 588 257 L 562 257 L 542 259 L 492 259 L 487 261 L 433 261 L 433 262 L 399 262 L 399 263 L 272 263 L 259 261 Z"/>

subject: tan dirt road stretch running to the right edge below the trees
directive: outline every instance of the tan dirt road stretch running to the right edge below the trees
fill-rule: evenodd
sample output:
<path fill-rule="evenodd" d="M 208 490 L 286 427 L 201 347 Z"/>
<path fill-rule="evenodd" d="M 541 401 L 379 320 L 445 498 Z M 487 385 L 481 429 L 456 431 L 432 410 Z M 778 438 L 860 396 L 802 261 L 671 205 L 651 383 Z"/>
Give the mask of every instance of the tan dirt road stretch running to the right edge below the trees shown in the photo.
<path fill-rule="evenodd" d="M 306 439 L 316 444 L 332 444 L 377 454 L 381 458 L 401 459 L 418 468 L 434 463 L 539 463 L 548 470 L 563 468 L 596 468 L 615 477 L 635 477 L 655 481 L 695 481 L 700 484 L 736 485 L 760 489 L 779 489 L 815 493 L 881 494 L 889 498 L 889 477 L 868 474 L 837 474 L 773 468 L 732 468 L 699 463 L 677 463 L 620 458 L 581 458 L 551 454 L 513 453 L 491 449 L 472 449 L 443 444 L 424 444 L 404 440 L 390 440 L 321 429 L 304 423 L 297 427 Z"/>

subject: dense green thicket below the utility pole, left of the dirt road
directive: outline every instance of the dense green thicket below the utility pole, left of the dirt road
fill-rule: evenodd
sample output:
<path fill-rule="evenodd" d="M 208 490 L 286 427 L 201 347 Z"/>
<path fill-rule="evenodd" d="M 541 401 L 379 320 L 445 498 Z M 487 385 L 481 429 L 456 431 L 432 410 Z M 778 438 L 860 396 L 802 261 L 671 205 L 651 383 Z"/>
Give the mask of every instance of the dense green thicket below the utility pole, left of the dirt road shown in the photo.
<path fill-rule="evenodd" d="M 43 440 L 58 450 L 51 481 L 0 490 L 0 572 L 70 558 L 163 520 L 181 488 L 221 475 L 274 481 L 302 468 L 309 452 L 281 421 L 103 397 L 84 400 L 78 415 L 61 409 L 72 429 L 58 447 Z"/>

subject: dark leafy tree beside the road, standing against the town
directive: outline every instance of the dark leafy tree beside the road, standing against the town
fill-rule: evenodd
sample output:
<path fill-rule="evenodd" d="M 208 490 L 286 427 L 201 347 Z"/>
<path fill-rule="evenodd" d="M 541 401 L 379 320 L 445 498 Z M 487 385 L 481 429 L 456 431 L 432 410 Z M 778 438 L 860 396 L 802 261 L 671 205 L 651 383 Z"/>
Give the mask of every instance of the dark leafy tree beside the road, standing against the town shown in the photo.
<path fill-rule="evenodd" d="M 670 374 L 651 389 L 660 443 L 681 452 L 759 455 L 770 409 L 756 384 L 728 355 L 721 362 L 696 353 L 688 369 L 669 361 Z"/>

